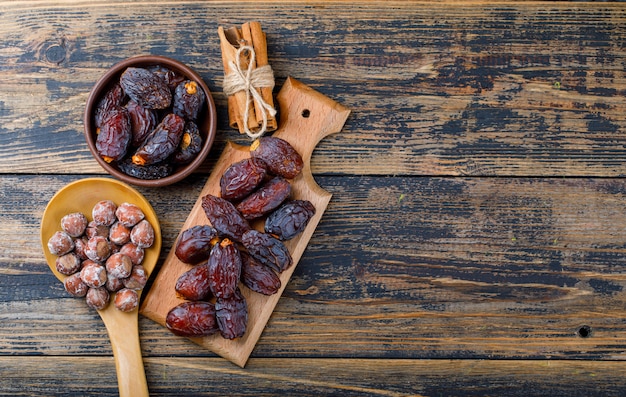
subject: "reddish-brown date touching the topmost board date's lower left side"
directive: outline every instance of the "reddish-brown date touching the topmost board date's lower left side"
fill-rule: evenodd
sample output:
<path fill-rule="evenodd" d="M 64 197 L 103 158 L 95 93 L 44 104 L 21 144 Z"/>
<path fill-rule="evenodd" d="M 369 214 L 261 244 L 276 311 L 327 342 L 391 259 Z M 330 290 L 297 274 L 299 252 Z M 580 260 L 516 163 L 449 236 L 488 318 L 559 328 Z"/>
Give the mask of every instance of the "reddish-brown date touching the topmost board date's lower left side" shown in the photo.
<path fill-rule="evenodd" d="M 256 189 L 267 175 L 265 163 L 246 158 L 232 164 L 220 178 L 220 195 L 229 201 L 238 201 Z"/>

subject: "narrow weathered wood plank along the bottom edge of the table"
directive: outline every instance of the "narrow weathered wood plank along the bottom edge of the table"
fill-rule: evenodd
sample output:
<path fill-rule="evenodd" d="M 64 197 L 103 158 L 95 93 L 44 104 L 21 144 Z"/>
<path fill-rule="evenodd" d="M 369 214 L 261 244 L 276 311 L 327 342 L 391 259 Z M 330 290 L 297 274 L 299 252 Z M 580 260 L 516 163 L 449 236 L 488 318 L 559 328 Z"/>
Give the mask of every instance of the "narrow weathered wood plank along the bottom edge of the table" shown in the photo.
<path fill-rule="evenodd" d="M 621 396 L 620 362 L 150 357 L 152 396 Z M 19 368 L 19 371 L 16 369 Z M 117 395 L 113 359 L 0 357 L 2 396 Z M 71 377 L 64 374 L 72 374 Z"/>

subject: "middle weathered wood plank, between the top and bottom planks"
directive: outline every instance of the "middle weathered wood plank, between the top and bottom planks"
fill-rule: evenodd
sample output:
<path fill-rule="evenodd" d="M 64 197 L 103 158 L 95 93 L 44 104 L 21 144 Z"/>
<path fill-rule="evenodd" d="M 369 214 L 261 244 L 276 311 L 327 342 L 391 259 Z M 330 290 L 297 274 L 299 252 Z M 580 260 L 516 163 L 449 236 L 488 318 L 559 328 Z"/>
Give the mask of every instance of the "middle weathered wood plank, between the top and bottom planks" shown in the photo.
<path fill-rule="evenodd" d="M 109 351 L 97 315 L 65 295 L 38 239 L 47 200 L 76 178 L 0 178 L 0 285 L 11 286 L 0 289 L 1 354 Z M 626 182 L 318 182 L 333 199 L 253 357 L 625 358 Z M 162 255 L 194 186 L 143 189 Z M 211 355 L 147 319 L 141 329 L 149 356 Z"/>

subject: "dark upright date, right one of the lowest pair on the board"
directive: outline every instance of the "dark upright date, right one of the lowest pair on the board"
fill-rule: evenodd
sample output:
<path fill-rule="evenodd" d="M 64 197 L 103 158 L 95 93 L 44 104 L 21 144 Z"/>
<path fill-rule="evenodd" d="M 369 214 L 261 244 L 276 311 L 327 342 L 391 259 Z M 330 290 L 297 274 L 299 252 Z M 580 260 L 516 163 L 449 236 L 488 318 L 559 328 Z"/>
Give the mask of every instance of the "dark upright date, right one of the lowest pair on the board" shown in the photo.
<path fill-rule="evenodd" d="M 239 288 L 229 298 L 217 298 L 215 317 L 222 337 L 235 339 L 246 333 L 248 306 Z"/>

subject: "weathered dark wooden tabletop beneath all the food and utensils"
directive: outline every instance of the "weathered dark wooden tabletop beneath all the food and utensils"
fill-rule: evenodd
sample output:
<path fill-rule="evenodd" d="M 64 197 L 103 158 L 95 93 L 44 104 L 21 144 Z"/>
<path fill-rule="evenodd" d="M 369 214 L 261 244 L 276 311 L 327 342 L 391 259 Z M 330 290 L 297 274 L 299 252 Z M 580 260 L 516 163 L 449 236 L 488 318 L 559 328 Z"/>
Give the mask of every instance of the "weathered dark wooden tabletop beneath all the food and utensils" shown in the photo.
<path fill-rule="evenodd" d="M 153 395 L 620 395 L 626 390 L 626 4 L 0 1 L 0 394 L 116 395 L 97 313 L 39 241 L 94 82 L 166 55 L 214 93 L 201 172 L 138 190 L 165 257 L 227 141 L 218 26 L 257 20 L 277 89 L 352 113 L 333 193 L 245 368 L 140 318 Z"/>

